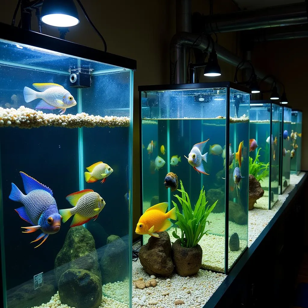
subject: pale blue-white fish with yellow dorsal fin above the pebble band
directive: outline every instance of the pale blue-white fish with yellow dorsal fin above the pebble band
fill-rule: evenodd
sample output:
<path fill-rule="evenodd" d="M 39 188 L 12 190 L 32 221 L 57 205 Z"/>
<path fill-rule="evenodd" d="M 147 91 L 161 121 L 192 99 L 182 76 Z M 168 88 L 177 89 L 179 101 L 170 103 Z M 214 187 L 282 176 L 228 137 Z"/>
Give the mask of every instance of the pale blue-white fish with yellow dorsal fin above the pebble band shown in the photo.
<path fill-rule="evenodd" d="M 40 92 L 24 87 L 23 96 L 26 103 L 37 98 L 41 99 L 35 109 L 61 109 L 60 115 L 62 115 L 66 108 L 77 104 L 71 93 L 57 83 L 33 83 L 32 85 Z"/>

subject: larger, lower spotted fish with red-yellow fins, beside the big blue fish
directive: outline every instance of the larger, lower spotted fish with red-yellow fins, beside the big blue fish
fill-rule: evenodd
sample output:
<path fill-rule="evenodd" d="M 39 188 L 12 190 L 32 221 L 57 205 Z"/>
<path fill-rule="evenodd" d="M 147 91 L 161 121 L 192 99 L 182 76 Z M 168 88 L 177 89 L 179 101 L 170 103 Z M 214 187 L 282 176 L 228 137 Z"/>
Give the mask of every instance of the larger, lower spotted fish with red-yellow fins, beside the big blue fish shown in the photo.
<path fill-rule="evenodd" d="M 72 193 L 66 197 L 66 200 L 73 208 L 61 209 L 59 213 L 63 217 L 63 222 L 66 222 L 72 215 L 75 215 L 70 227 L 83 225 L 92 218 L 95 220 L 106 205 L 104 199 L 92 189 L 84 189 Z"/>

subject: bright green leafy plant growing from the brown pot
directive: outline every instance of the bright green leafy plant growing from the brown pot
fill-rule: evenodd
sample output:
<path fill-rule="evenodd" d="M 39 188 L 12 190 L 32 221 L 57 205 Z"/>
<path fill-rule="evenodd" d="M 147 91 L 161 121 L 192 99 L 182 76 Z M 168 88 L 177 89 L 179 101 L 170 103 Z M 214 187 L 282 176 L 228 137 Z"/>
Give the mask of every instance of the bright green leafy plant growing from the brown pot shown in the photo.
<path fill-rule="evenodd" d="M 205 198 L 205 191 L 203 187 L 200 191 L 199 199 L 195 205 L 194 210 L 190 204 L 188 193 L 185 192 L 182 181 L 180 180 L 181 189 L 178 189 L 182 196 L 175 195 L 182 206 L 182 213 L 180 213 L 178 206 L 174 201 L 173 205 L 176 208 L 176 225 L 181 230 L 181 236 L 177 235 L 176 229 L 172 232 L 173 237 L 180 239 L 183 247 L 192 248 L 195 247 L 205 234 L 208 235 L 208 231 L 205 231 L 206 223 L 209 214 L 213 211 L 217 201 L 210 207 L 206 207 L 208 201 Z"/>

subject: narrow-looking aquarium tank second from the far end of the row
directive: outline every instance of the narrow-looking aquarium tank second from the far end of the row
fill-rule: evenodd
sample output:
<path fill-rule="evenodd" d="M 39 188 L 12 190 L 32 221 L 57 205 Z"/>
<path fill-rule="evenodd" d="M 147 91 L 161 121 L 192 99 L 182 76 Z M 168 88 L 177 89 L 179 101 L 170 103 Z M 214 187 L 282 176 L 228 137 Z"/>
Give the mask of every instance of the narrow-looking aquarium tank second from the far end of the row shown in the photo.
<path fill-rule="evenodd" d="M 292 134 L 291 128 L 291 112 L 290 107 L 282 106 L 279 115 L 280 121 L 280 133 L 281 133 L 281 158 L 280 158 L 280 176 L 279 176 L 279 191 L 282 194 L 285 189 L 290 185 L 290 170 L 291 160 L 295 156 L 295 150 L 292 146 Z"/>

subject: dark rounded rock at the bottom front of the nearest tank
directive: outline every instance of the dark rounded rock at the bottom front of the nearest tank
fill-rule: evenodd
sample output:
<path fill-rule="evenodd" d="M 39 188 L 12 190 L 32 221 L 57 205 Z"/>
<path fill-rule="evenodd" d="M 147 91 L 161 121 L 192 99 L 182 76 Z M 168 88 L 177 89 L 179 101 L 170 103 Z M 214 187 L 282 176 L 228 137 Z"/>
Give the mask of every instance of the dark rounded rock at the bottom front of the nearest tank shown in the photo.
<path fill-rule="evenodd" d="M 87 270 L 67 270 L 60 277 L 61 302 L 75 308 L 98 308 L 102 301 L 102 283 Z"/>

